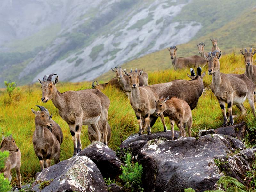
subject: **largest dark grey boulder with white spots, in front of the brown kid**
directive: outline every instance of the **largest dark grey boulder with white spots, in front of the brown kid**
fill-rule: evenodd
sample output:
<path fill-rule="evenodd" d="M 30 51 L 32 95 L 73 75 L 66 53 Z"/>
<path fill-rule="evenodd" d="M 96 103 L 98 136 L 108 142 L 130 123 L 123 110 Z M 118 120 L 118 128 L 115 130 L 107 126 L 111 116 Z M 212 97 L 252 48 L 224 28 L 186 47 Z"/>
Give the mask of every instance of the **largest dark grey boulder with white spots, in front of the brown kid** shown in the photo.
<path fill-rule="evenodd" d="M 220 168 L 220 159 L 230 161 L 226 163 L 228 175 L 237 175 L 242 180 L 241 170 L 249 170 L 250 164 L 255 162 L 252 150 L 247 151 L 241 140 L 227 135 L 205 135 L 198 138 L 184 137 L 176 140 L 136 141 L 128 138 L 131 143 L 125 142 L 125 146 L 134 147 L 135 143 L 143 145 L 140 150 L 133 150 L 139 164 L 143 166 L 143 188 L 145 191 L 184 191 L 185 188 L 193 188 L 197 192 L 216 188 L 216 182 L 225 168 Z M 123 142 L 124 143 L 124 142 Z M 137 143 L 138 144 L 138 143 Z M 124 147 L 124 145 L 122 146 Z M 136 154 L 137 153 L 137 154 Z M 247 156 L 247 159 L 246 157 Z M 234 162 L 231 158 L 239 159 Z M 243 164 L 240 164 L 242 162 Z M 239 167 L 236 166 L 239 164 Z M 218 165 L 218 166 L 217 166 Z M 233 169 L 234 168 L 234 169 Z"/>

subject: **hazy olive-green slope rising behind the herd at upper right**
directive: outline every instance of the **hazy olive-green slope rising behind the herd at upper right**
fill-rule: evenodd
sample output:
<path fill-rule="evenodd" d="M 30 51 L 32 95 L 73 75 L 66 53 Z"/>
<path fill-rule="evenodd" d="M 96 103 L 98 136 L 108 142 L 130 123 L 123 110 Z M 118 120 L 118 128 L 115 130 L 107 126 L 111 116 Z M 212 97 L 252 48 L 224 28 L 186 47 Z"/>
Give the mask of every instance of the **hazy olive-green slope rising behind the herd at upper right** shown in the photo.
<path fill-rule="evenodd" d="M 255 2 L 256 4 L 256 2 Z M 242 15 L 242 16 L 241 16 Z M 219 38 L 218 47 L 224 54 L 235 52 L 240 54 L 240 50 L 244 47 L 252 46 L 256 47 L 256 8 L 248 8 L 241 15 L 237 16 L 234 20 L 228 22 L 223 27 L 208 33 L 207 35 L 196 38 L 186 44 L 177 45 L 178 57 L 186 57 L 190 55 L 199 55 L 197 46 L 199 42 L 204 42 L 205 52 L 209 52 L 212 49 L 212 42 L 210 38 Z M 202 29 L 203 30 L 203 29 Z M 172 44 L 170 45 L 172 46 Z M 148 54 L 144 57 L 132 60 L 122 65 L 122 68 L 143 68 L 146 71 L 157 71 L 172 68 L 172 61 L 167 49 L 163 49 L 159 52 Z M 107 81 L 109 78 L 114 77 L 115 74 L 110 70 L 98 77 L 98 80 Z"/>

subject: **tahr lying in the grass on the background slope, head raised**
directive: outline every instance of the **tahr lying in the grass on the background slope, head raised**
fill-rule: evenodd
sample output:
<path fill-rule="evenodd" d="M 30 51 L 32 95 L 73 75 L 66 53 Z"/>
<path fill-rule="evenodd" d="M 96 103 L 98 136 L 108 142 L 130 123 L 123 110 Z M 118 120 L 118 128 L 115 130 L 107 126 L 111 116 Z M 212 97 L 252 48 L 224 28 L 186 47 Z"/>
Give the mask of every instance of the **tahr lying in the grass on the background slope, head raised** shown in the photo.
<path fill-rule="evenodd" d="M 170 48 L 167 48 L 171 55 L 172 65 L 174 69 L 182 69 L 186 67 L 198 67 L 198 66 L 205 66 L 207 60 L 198 56 L 190 56 L 190 57 L 177 57 L 177 47 L 171 46 Z"/>

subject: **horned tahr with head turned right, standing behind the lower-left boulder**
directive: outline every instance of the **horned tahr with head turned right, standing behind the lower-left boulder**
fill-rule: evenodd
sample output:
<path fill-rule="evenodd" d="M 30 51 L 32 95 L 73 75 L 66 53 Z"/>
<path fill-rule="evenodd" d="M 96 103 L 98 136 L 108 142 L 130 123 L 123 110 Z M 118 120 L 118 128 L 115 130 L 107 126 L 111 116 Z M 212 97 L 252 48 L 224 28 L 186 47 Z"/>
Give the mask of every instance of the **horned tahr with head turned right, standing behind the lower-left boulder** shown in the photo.
<path fill-rule="evenodd" d="M 37 106 L 39 107 L 39 106 Z M 42 106 L 39 107 L 40 109 Z M 36 115 L 36 129 L 32 136 L 33 147 L 36 156 L 39 159 L 41 171 L 44 168 L 51 166 L 51 160 L 54 159 L 54 164 L 57 164 L 60 159 L 60 143 L 50 131 L 52 127 L 51 116 L 48 110 L 34 111 Z"/>

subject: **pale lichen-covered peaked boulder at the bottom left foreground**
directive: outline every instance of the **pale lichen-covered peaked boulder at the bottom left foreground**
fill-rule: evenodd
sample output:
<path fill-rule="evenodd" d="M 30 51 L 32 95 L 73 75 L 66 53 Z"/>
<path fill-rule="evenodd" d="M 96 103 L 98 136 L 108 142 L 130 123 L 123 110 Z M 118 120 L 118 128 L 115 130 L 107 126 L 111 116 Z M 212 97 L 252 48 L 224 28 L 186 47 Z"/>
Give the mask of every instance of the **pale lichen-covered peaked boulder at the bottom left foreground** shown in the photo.
<path fill-rule="evenodd" d="M 44 186 L 40 189 L 40 186 Z M 44 169 L 36 175 L 31 191 L 106 192 L 106 184 L 95 163 L 86 156 L 70 159 Z"/>

